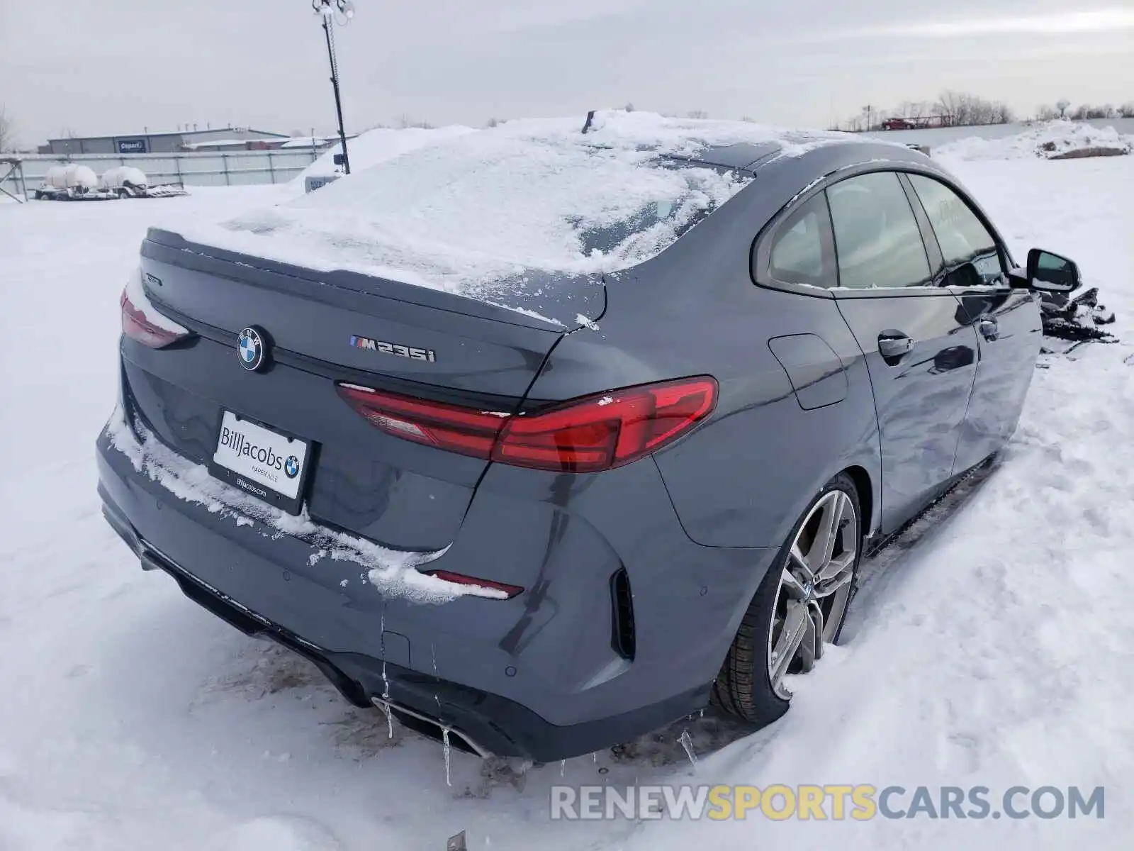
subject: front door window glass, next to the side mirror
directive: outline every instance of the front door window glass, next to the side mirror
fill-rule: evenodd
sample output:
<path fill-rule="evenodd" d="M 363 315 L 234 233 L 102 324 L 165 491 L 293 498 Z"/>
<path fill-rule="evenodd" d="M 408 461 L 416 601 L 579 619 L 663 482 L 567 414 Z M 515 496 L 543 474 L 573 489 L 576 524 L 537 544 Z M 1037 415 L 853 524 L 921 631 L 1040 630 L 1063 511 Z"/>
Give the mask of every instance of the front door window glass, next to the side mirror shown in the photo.
<path fill-rule="evenodd" d="M 941 246 L 945 284 L 997 284 L 1005 272 L 1000 250 L 972 208 L 943 183 L 922 175 L 908 177 Z"/>

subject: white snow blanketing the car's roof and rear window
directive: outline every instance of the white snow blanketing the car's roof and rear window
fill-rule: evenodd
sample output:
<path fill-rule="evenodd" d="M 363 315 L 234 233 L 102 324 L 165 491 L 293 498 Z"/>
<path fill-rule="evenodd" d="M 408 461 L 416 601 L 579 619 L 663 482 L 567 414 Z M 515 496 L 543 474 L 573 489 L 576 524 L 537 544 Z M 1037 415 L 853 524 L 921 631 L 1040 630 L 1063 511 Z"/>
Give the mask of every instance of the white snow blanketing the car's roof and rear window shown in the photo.
<path fill-rule="evenodd" d="M 499 295 L 533 271 L 587 275 L 648 260 L 751 179 L 708 165 L 661 168 L 662 154 L 775 142 L 784 155 L 852 138 L 625 111 L 582 127 L 577 117 L 508 121 L 183 235 L 319 271 Z"/>

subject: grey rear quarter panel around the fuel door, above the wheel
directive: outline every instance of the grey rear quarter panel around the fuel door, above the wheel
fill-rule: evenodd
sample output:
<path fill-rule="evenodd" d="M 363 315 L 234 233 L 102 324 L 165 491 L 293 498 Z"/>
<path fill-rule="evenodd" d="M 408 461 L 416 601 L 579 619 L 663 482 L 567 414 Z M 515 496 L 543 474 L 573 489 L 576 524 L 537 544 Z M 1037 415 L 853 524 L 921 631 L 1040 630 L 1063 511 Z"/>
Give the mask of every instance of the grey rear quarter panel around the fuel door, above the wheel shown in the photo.
<path fill-rule="evenodd" d="M 596 330 L 567 335 L 528 399 L 684 376 L 720 384 L 717 410 L 687 437 L 653 456 L 686 534 L 712 547 L 779 547 L 819 489 L 860 466 L 879 512 L 880 447 L 862 352 L 833 298 L 756 286 L 753 241 L 810 178 L 785 162 L 633 270 L 608 280 Z M 769 339 L 818 335 L 846 380 L 832 404 L 804 410 Z M 869 530 L 865 530 L 869 531 Z"/>

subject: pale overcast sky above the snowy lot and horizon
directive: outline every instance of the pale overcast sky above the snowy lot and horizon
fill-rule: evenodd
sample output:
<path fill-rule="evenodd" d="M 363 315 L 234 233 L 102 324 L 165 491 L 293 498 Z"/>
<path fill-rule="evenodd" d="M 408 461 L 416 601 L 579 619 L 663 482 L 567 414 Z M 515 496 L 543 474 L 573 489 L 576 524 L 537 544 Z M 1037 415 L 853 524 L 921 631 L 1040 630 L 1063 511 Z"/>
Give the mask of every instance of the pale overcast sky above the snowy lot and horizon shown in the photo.
<path fill-rule="evenodd" d="M 337 27 L 348 130 L 401 116 L 623 106 L 826 126 L 968 91 L 1023 113 L 1134 101 L 1132 0 L 355 0 Z M 0 104 L 24 144 L 335 126 L 310 0 L 0 0 Z"/>

